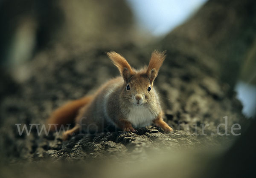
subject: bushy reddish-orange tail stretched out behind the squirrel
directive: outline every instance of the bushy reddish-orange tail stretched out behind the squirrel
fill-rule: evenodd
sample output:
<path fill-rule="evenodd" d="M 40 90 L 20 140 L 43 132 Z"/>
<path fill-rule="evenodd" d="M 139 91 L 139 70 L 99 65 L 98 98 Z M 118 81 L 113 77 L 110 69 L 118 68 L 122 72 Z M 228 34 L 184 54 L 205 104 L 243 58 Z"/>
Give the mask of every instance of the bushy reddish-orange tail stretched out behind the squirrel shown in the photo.
<path fill-rule="evenodd" d="M 82 106 L 90 103 L 92 98 L 93 96 L 86 96 L 78 100 L 70 101 L 64 106 L 59 107 L 54 112 L 52 112 L 52 115 L 47 120 L 47 124 L 58 124 L 57 129 L 59 129 L 61 127 L 61 124 L 66 126 L 66 124 L 74 123 L 79 109 Z M 50 130 L 55 130 L 55 126 L 50 126 Z"/>

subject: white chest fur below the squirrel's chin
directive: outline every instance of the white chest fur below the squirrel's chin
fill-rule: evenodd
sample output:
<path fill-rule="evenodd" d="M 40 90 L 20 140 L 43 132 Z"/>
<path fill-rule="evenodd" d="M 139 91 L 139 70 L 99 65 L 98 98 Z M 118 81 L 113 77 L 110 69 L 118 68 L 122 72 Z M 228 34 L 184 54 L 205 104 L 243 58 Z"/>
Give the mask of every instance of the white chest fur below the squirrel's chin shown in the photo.
<path fill-rule="evenodd" d="M 134 106 L 131 108 L 128 114 L 128 121 L 131 122 L 132 126 L 135 128 L 140 128 L 148 126 L 156 118 L 150 110 L 143 106 Z"/>

